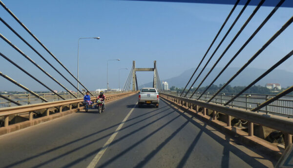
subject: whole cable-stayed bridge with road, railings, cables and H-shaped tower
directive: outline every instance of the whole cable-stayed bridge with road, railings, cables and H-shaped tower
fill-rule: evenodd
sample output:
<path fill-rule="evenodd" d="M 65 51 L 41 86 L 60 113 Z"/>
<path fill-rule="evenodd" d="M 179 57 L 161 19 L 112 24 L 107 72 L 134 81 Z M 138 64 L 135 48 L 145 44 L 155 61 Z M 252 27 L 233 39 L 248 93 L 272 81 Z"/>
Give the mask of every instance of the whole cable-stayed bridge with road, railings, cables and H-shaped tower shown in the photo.
<path fill-rule="evenodd" d="M 184 2 L 203 3 L 200 0 Z M 9 77 L 10 74 L 0 72 L 3 79 L 28 93 L 0 94 L 0 152 L 2 153 L 0 167 L 293 167 L 293 97 L 289 95 L 293 91 L 293 86 L 278 94 L 246 93 L 258 81 L 288 61 L 293 50 L 285 55 L 278 55 L 274 64 L 255 80 L 250 81 L 251 83 L 241 92 L 223 92 L 225 87 L 229 86 L 266 48 L 269 48 L 279 35 L 286 33 L 285 30 L 292 26 L 293 17 L 279 25 L 280 28 L 271 35 L 269 40 L 251 55 L 247 62 L 243 62 L 243 66 L 219 90 L 210 92 L 214 82 L 221 78 L 221 74 L 225 73 L 234 59 L 262 31 L 278 9 L 284 7 L 282 5 L 286 0 L 277 0 L 275 3 L 270 1 L 269 5 L 266 0 L 220 2 L 233 4 L 233 6 L 218 32 L 211 32 L 215 34 L 215 37 L 207 46 L 205 54 L 196 63 L 196 69 L 186 81 L 183 92 L 177 93 L 163 89 L 157 61 L 154 61 L 151 68 L 137 68 L 136 62 L 133 61 L 123 88 L 119 91 L 105 91 L 106 110 L 105 113 L 98 114 L 95 109 L 85 113 L 82 102 L 85 92 L 89 92 L 92 98 L 98 96 L 99 92 L 88 90 L 65 67 L 58 56 L 46 48 L 42 41 L 29 30 L 29 27 L 0 1 L 2 8 L 11 16 L 11 19 L 20 24 L 62 67 L 62 70 L 56 68 L 46 56 L 41 54 L 42 52 L 34 48 L 0 16 L 1 23 L 66 81 L 63 83 L 57 80 L 0 32 L 3 42 L 66 91 L 55 92 L 55 88 L 49 87 L 42 78 L 34 76 L 21 64 L 11 60 L 12 56 L 9 53 L 0 51 L 0 56 L 11 66 L 25 73 L 29 80 L 41 84 L 48 90 L 48 93 L 36 93 L 33 91 L 34 86 L 24 86 L 21 82 Z M 206 3 L 213 3 L 213 1 L 209 0 Z M 236 12 L 235 8 L 239 5 L 241 10 Z M 218 53 L 218 49 L 223 47 L 223 42 L 227 41 L 226 38 L 231 30 L 236 29 L 234 25 L 239 22 L 239 18 L 249 5 L 254 6 L 254 10 L 237 30 L 228 46 L 224 46 L 224 51 Z M 199 92 L 203 82 L 208 80 L 209 74 L 220 60 L 225 58 L 227 51 L 262 6 L 273 6 L 273 8 L 263 21 L 258 23 L 251 35 L 243 41 L 243 45 L 237 48 L 231 59 L 227 60 L 222 71 L 210 80 L 210 84 L 203 92 Z M 289 5 L 289 7 L 292 6 Z M 227 25 L 230 23 L 231 15 L 235 13 L 237 17 L 231 21 L 231 25 Z M 224 31 L 225 26 L 229 27 L 227 31 Z M 288 47 L 291 47 L 290 44 Z M 213 65 L 210 64 L 212 58 L 216 59 Z M 206 60 L 205 64 L 204 60 Z M 158 62 L 158 67 L 162 64 L 164 62 Z M 204 74 L 208 66 L 212 68 Z M 156 88 L 160 95 L 157 109 L 152 106 L 139 108 L 137 105 L 140 88 L 136 72 L 140 71 L 153 72 L 153 78 L 150 81 L 153 83 L 152 87 Z M 69 77 L 74 80 L 70 80 Z M 81 85 L 84 91 L 74 85 L 75 82 Z M 72 92 L 65 87 L 68 85 L 77 92 Z"/>

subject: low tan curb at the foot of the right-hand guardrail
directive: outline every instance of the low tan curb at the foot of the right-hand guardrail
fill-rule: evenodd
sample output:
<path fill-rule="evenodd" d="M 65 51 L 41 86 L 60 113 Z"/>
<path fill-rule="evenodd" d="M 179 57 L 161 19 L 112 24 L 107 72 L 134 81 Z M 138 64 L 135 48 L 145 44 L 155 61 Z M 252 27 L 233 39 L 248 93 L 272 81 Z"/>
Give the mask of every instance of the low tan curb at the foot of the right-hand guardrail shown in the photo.
<path fill-rule="evenodd" d="M 248 145 L 252 148 L 258 149 L 265 153 L 271 153 L 272 156 L 276 159 L 279 159 L 282 156 L 282 153 L 284 149 L 280 149 L 277 145 L 274 145 L 270 142 L 267 142 L 266 140 L 263 140 L 261 138 L 258 138 L 256 136 L 248 136 L 248 133 L 245 131 L 242 131 L 238 127 L 232 127 L 227 126 L 227 123 L 219 121 L 219 120 L 212 120 L 212 117 L 204 116 L 200 112 L 196 112 L 193 109 L 189 109 L 185 106 L 176 104 L 164 97 L 161 97 L 164 101 L 167 102 L 167 104 L 171 106 L 175 106 L 181 110 L 187 111 L 189 114 L 193 115 L 194 117 L 204 121 L 205 123 L 208 123 L 209 125 L 217 128 L 217 130 L 221 131 L 222 133 L 226 133 L 232 137 L 234 137 L 235 140 L 240 142 L 241 144 Z"/>

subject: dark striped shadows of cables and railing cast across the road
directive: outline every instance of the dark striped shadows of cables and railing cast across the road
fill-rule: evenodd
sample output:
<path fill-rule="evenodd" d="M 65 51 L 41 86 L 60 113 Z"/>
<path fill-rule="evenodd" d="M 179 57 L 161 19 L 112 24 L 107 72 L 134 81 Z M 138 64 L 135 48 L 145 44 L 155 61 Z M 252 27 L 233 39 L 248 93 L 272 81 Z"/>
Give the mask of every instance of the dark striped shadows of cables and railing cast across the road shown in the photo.
<path fill-rule="evenodd" d="M 130 108 L 131 106 L 133 105 L 129 105 L 128 108 Z M 162 110 L 163 108 L 167 107 L 165 110 Z M 132 107 L 133 108 L 133 107 Z M 170 111 L 170 109 L 173 109 Z M 158 111 L 158 110 L 162 110 L 162 111 Z M 167 112 L 167 110 L 169 110 Z M 134 122 L 126 127 L 123 127 L 121 130 L 125 130 L 137 123 L 140 123 L 144 120 L 148 120 L 154 116 L 157 116 L 159 114 L 165 114 L 159 118 L 156 118 L 155 120 L 150 120 L 147 124 L 131 131 L 130 133 L 127 133 L 125 135 L 123 135 L 122 137 L 120 137 L 119 139 L 116 139 L 114 140 L 111 144 L 109 144 L 109 147 L 112 146 L 113 144 L 117 144 L 119 143 L 120 141 L 124 140 L 125 138 L 139 132 L 140 130 L 142 129 L 145 129 L 147 126 L 151 125 L 151 124 L 154 124 L 156 122 L 158 122 L 159 120 L 162 120 L 164 118 L 166 118 L 167 116 L 171 115 L 171 114 L 174 114 L 174 112 L 177 112 L 178 115 L 176 115 L 175 117 L 173 117 L 172 119 L 169 119 L 166 123 L 164 123 L 162 126 L 158 127 L 156 130 L 153 130 L 152 132 L 150 132 L 148 135 L 146 135 L 145 137 L 143 137 L 140 141 L 134 143 L 134 144 L 131 144 L 129 147 L 127 147 L 125 150 L 121 151 L 120 153 L 116 154 L 114 157 L 112 158 L 109 158 L 109 160 L 107 160 L 105 163 L 103 163 L 102 165 L 99 166 L 99 168 L 105 168 L 105 167 L 108 167 L 111 163 L 115 162 L 118 158 L 124 156 L 127 152 L 129 152 L 130 150 L 132 150 L 134 147 L 140 145 L 140 144 L 143 144 L 148 138 L 150 138 L 152 135 L 154 135 L 155 133 L 157 133 L 158 131 L 160 131 L 161 129 L 163 129 L 164 127 L 166 127 L 168 124 L 170 124 L 171 122 L 173 122 L 174 120 L 178 119 L 179 117 L 184 117 L 185 119 L 187 119 L 187 121 L 185 123 L 183 123 L 179 128 L 177 128 L 176 130 L 174 130 L 174 132 L 169 136 L 167 137 L 161 144 L 159 144 L 156 149 L 154 149 L 153 151 L 151 151 L 145 158 L 144 160 L 142 160 L 138 165 L 136 165 L 137 168 L 140 168 L 140 167 L 143 167 L 145 166 L 150 160 L 151 158 L 153 158 L 168 142 L 170 142 L 171 139 L 173 139 L 175 137 L 176 134 L 178 134 L 188 123 L 192 123 L 193 125 L 195 125 L 196 127 L 198 127 L 200 129 L 200 132 L 196 135 L 195 139 L 193 140 L 193 142 L 189 145 L 187 151 L 185 152 L 184 156 L 182 157 L 181 161 L 179 162 L 179 164 L 177 165 L 177 168 L 182 168 L 185 166 L 186 162 L 188 161 L 188 158 L 190 156 L 190 154 L 193 152 L 196 144 L 198 143 L 198 141 L 200 140 L 200 137 L 202 136 L 203 133 L 207 134 L 209 137 L 211 137 L 213 140 L 215 140 L 216 142 L 218 142 L 219 144 L 221 144 L 223 147 L 224 147 L 224 150 L 223 150 L 223 156 L 222 156 L 222 163 L 221 163 L 221 166 L 222 167 L 229 167 L 229 161 L 230 161 L 230 152 L 233 153 L 234 155 L 236 155 L 238 158 L 240 158 L 241 160 L 243 160 L 244 162 L 246 162 L 248 165 L 250 165 L 251 167 L 256 167 L 256 168 L 263 168 L 263 167 L 266 167 L 264 166 L 262 163 L 260 163 L 259 161 L 257 161 L 256 159 L 257 158 L 254 158 L 254 157 L 251 157 L 249 156 L 248 154 L 246 154 L 245 152 L 243 152 L 242 150 L 238 149 L 237 147 L 231 145 L 229 142 L 230 142 L 230 138 L 229 137 L 226 137 L 226 140 L 219 137 L 217 134 L 215 134 L 214 132 L 212 132 L 211 130 L 207 129 L 206 128 L 206 124 L 205 125 L 201 125 L 200 123 L 196 122 L 195 120 L 193 120 L 193 116 L 192 117 L 188 117 L 187 115 L 185 115 L 186 112 L 179 112 L 177 109 L 175 109 L 174 107 L 172 107 L 171 105 L 168 105 L 167 106 L 164 106 L 164 107 L 161 107 L 161 108 L 158 108 L 158 109 L 155 109 L 153 111 L 150 111 L 146 114 L 142 114 L 138 117 L 135 117 L 135 118 L 132 118 L 132 119 L 129 119 L 129 120 L 126 120 L 126 122 L 130 121 L 130 120 L 134 120 L 136 118 L 139 118 L 139 117 L 142 117 L 142 116 L 145 116 L 147 114 L 151 114 L 153 112 L 158 112 L 158 113 L 155 113 L 151 116 L 148 116 L 142 120 L 139 120 L 137 122 Z M 167 112 L 167 113 L 166 113 Z M 71 141 L 67 144 L 63 144 L 63 145 L 60 145 L 60 146 L 57 146 L 55 148 L 52 148 L 50 150 L 47 150 L 45 152 L 42 152 L 40 154 L 37 154 L 37 155 L 34 155 L 34 156 L 31 156 L 31 157 L 28 157 L 26 159 L 23 159 L 21 161 L 18 161 L 18 162 L 15 162 L 13 164 L 10 164 L 8 166 L 6 166 L 5 168 L 10 168 L 10 167 L 13 167 L 13 166 L 17 166 L 21 163 L 24 163 L 26 161 L 29 161 L 29 160 L 32 160 L 32 159 L 35 159 L 37 157 L 40 157 L 42 155 L 45 155 L 45 154 L 48 154 L 49 152 L 52 152 L 52 151 L 55 151 L 55 150 L 58 150 L 64 146 L 67 146 L 69 144 L 73 144 L 73 143 L 77 143 L 77 142 L 80 142 L 86 138 L 89 138 L 93 135 L 96 135 L 98 133 L 101 133 L 107 129 L 110 129 L 110 128 L 113 128 L 115 126 L 118 126 L 120 123 L 117 123 L 117 124 L 114 124 L 108 128 L 105 128 L 105 129 L 102 129 L 100 131 L 97 131 L 97 132 L 94 132 L 92 134 L 89 134 L 89 135 L 86 135 L 82 138 L 79 138 L 77 140 L 74 140 L 74 141 Z M 90 141 L 90 142 L 87 142 L 85 144 L 82 144 L 80 145 L 79 147 L 75 147 L 73 148 L 72 150 L 69 150 L 69 151 L 66 151 L 65 153 L 63 154 L 60 154 L 60 155 L 57 155 L 57 156 L 54 156 L 54 158 L 51 158 L 49 160 L 46 160 L 46 161 L 42 161 L 41 163 L 39 162 L 38 165 L 34 166 L 33 168 L 38 168 L 38 167 L 41 167 L 41 166 L 44 166 L 50 162 L 53 162 L 55 160 L 58 160 L 58 159 L 62 159 L 63 157 L 67 156 L 68 154 L 72 153 L 72 152 L 76 152 L 88 145 L 91 145 L 91 144 L 94 144 L 94 143 L 97 143 L 98 141 L 104 139 L 104 138 L 107 138 L 109 136 L 111 136 L 113 134 L 113 132 L 103 136 L 103 137 L 99 137 L 98 139 L 95 139 L 93 141 Z M 72 167 L 72 166 L 75 166 L 76 164 L 84 161 L 85 159 L 89 158 L 89 157 L 93 157 L 95 154 L 97 154 L 102 148 L 97 148 L 95 150 L 92 150 L 91 152 L 88 152 L 86 155 L 83 155 L 81 156 L 80 158 L 74 160 L 73 162 L 71 163 L 68 163 L 67 165 L 64 166 L 64 168 L 67 168 L 67 167 Z"/>

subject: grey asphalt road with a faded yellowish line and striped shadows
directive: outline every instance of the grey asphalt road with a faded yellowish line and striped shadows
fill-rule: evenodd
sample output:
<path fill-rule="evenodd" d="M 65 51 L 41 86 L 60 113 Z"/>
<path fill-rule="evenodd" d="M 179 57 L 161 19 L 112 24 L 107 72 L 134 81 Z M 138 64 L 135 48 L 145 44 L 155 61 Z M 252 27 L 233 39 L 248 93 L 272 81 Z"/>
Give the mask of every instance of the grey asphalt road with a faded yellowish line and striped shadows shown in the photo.
<path fill-rule="evenodd" d="M 234 142 L 162 100 L 159 108 L 138 108 L 137 97 L 109 102 L 102 114 L 79 112 L 1 136 L 0 167 L 263 168 L 275 164 L 269 154 Z"/>

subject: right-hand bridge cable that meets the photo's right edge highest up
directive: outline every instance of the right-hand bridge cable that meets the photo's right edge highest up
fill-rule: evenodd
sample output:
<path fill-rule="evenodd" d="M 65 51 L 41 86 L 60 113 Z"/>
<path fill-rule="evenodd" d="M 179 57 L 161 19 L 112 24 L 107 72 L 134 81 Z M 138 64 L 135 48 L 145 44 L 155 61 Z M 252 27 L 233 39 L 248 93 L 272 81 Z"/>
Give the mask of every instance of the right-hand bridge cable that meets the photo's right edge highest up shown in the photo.
<path fill-rule="evenodd" d="M 229 83 L 236 77 L 240 72 L 242 72 L 265 48 L 267 48 L 272 41 L 274 41 L 291 23 L 293 22 L 293 17 L 289 19 L 289 21 L 284 24 L 272 37 L 271 39 L 262 47 L 260 48 L 246 64 L 238 71 L 236 72 L 227 83 L 225 83 L 210 99 L 208 102 L 210 102 L 215 96 L 217 96 Z"/>

